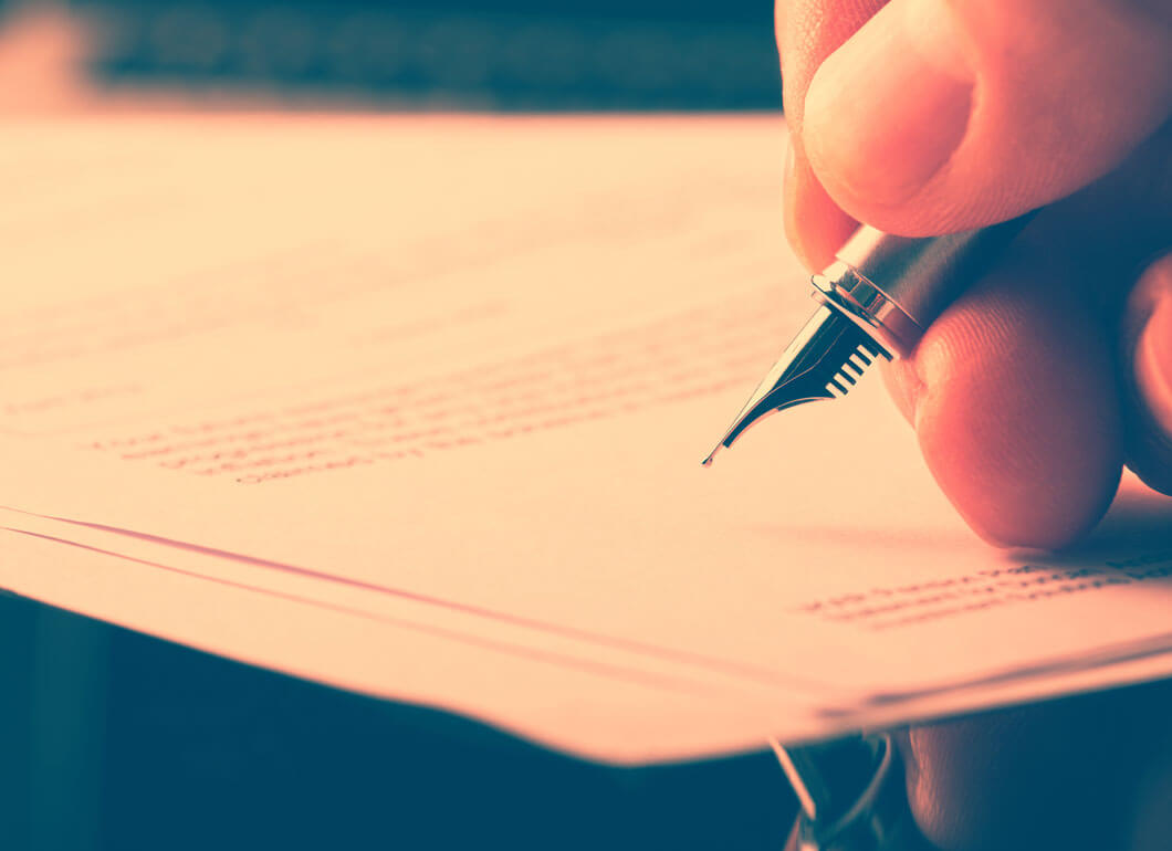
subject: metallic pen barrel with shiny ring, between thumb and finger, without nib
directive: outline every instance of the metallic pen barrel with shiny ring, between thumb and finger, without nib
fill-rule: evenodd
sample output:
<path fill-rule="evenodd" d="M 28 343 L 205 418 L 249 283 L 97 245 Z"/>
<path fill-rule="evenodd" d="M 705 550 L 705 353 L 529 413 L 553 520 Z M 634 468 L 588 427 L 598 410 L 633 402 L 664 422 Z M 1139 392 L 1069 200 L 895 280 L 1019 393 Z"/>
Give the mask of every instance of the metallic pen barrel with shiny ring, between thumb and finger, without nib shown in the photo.
<path fill-rule="evenodd" d="M 1030 218 L 941 237 L 897 237 L 863 225 L 813 282 L 891 353 L 906 355 Z"/>

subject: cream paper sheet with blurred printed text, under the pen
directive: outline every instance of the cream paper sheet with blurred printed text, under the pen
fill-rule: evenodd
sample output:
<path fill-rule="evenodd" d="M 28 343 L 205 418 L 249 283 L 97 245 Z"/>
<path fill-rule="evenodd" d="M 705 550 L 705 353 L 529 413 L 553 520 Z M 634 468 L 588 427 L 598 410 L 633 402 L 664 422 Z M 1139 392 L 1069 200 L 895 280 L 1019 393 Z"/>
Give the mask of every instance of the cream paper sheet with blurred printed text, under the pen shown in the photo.
<path fill-rule="evenodd" d="M 18 593 L 625 762 L 1172 672 L 1133 481 L 1079 554 L 990 550 L 878 376 L 700 467 L 812 308 L 779 120 L 5 139 Z"/>

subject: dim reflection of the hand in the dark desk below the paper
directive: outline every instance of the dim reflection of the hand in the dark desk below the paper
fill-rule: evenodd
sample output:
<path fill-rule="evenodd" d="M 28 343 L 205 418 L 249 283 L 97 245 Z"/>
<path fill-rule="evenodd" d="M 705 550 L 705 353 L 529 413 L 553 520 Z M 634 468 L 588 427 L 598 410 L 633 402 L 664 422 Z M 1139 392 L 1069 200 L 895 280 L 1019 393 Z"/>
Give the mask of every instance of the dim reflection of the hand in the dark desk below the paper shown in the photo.
<path fill-rule="evenodd" d="M 913 729 L 908 803 L 942 851 L 1166 847 L 1170 712 L 1165 681 Z"/>

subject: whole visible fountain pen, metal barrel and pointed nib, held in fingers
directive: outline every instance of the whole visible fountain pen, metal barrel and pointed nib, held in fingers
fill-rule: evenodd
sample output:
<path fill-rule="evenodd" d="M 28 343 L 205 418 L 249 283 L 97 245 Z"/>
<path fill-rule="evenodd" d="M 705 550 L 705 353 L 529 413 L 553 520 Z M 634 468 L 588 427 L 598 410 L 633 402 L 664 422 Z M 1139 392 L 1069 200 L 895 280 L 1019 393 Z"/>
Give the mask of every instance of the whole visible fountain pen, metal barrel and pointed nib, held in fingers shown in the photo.
<path fill-rule="evenodd" d="M 819 307 L 704 458 L 774 411 L 846 395 L 877 359 L 904 358 L 1017 236 L 1030 215 L 942 237 L 863 225 L 810 280 Z"/>

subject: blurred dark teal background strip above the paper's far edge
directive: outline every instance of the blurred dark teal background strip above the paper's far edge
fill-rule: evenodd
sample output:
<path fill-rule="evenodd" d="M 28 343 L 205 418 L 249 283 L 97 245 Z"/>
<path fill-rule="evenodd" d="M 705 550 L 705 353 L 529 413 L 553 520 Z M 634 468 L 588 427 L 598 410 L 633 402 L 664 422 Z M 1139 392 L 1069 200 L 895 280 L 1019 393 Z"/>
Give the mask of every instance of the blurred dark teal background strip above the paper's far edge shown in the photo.
<path fill-rule="evenodd" d="M 0 0 L 0 21 L 9 105 L 138 97 L 690 111 L 781 102 L 771 0 Z M 76 76 L 50 82 L 46 72 L 66 64 Z"/>

